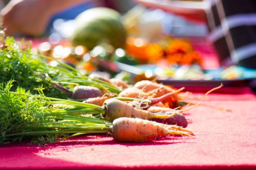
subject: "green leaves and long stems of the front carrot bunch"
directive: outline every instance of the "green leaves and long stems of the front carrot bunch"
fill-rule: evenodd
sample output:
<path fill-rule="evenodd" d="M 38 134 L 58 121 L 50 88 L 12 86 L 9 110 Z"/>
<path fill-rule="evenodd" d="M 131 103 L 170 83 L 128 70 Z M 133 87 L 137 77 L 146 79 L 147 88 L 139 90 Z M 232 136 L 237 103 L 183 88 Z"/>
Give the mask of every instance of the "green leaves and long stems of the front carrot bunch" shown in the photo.
<path fill-rule="evenodd" d="M 43 87 L 35 89 L 39 95 L 31 95 L 21 87 L 10 91 L 13 83 L 12 79 L 0 84 L 0 145 L 25 139 L 32 143 L 57 142 L 78 134 L 111 130 L 109 122 L 82 116 L 98 115 L 100 107 L 96 105 L 48 98 Z"/>

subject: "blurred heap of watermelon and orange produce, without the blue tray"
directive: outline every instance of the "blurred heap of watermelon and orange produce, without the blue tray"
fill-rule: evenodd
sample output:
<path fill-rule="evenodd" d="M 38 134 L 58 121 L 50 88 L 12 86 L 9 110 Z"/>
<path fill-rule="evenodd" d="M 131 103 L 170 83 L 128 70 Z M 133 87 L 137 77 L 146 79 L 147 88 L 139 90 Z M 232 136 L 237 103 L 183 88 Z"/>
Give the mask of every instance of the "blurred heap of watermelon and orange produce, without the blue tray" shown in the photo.
<path fill-rule="evenodd" d="M 145 19 L 149 12 L 151 18 Z M 166 68 L 164 75 L 160 75 L 163 71 L 147 76 L 142 74 L 135 81 L 170 76 L 174 72 L 173 66 L 201 65 L 202 57 L 189 41 L 172 38 L 162 31 L 162 14 L 152 14 L 152 11 L 141 6 L 135 6 L 123 16 L 110 8 L 92 8 L 72 22 L 74 28 L 70 30 L 73 33 L 69 37 L 58 43 L 51 42 L 49 38 L 48 42 L 39 44 L 35 51 L 72 65 L 84 73 L 106 71 L 110 73 L 109 76 L 116 75 L 120 70 L 110 67 L 115 62 L 136 67 L 164 65 Z M 53 66 L 58 64 L 56 61 L 49 62 Z M 121 73 L 131 79 L 129 74 Z"/>

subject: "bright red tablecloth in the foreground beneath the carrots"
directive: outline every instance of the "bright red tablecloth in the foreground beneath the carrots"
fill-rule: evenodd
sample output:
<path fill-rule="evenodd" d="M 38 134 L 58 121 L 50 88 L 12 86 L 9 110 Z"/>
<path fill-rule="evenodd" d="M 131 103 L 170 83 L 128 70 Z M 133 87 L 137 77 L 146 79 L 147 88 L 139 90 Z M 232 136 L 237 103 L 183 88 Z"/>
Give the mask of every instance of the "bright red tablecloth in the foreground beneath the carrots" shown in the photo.
<path fill-rule="evenodd" d="M 246 87 L 217 92 L 186 111 L 194 138 L 120 143 L 90 134 L 44 147 L 17 142 L 0 146 L 0 169 L 256 169 L 256 96 Z M 188 97 L 196 102 L 203 94 Z"/>

